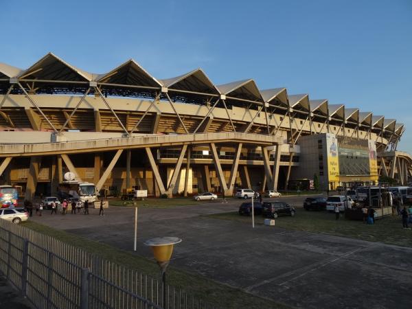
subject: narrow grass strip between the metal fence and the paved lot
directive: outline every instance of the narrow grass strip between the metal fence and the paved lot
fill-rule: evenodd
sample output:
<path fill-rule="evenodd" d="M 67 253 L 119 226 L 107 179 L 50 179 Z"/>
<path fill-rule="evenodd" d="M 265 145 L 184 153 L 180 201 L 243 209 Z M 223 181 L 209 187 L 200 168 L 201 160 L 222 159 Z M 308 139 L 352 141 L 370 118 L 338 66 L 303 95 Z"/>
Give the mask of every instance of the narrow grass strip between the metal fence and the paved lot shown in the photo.
<path fill-rule="evenodd" d="M 106 260 L 122 264 L 126 268 L 137 270 L 152 277 L 159 277 L 159 267 L 154 260 L 148 260 L 107 244 L 82 238 L 59 229 L 53 229 L 32 220 L 27 220 L 21 223 L 21 225 L 57 238 L 84 251 L 100 255 Z M 196 273 L 181 271 L 173 266 L 168 267 L 168 283 L 176 288 L 182 288 L 190 295 L 200 297 L 203 301 L 207 301 L 207 303 L 214 304 L 220 308 L 289 308 L 288 306 L 251 295 L 238 288 L 231 288 L 225 284 L 220 284 Z"/>

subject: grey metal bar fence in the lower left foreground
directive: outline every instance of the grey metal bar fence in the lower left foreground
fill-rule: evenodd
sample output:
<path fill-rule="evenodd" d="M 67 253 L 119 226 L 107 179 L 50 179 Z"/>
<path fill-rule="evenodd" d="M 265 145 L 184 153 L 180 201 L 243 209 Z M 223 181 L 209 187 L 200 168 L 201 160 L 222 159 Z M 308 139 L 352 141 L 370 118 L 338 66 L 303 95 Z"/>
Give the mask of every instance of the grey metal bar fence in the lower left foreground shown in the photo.
<path fill-rule="evenodd" d="M 0 272 L 36 308 L 214 308 L 157 279 L 0 220 Z"/>

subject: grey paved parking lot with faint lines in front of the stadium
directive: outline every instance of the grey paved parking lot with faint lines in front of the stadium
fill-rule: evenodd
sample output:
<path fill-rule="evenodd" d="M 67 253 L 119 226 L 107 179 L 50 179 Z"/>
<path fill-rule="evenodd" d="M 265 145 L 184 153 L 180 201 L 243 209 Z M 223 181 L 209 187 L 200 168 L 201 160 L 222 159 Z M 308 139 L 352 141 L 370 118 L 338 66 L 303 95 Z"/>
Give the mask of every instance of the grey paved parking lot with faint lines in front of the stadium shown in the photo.
<path fill-rule="evenodd" d="M 303 200 L 282 197 L 299 207 Z M 204 216 L 236 211 L 240 203 L 141 207 L 137 254 L 152 258 L 143 244 L 148 238 L 177 236 L 183 242 L 176 246 L 173 266 L 289 306 L 410 308 L 412 248 L 263 225 L 252 229 L 242 222 Z M 91 209 L 89 216 L 45 213 L 33 220 L 131 250 L 133 216 L 133 207 L 110 207 L 103 217 Z"/>

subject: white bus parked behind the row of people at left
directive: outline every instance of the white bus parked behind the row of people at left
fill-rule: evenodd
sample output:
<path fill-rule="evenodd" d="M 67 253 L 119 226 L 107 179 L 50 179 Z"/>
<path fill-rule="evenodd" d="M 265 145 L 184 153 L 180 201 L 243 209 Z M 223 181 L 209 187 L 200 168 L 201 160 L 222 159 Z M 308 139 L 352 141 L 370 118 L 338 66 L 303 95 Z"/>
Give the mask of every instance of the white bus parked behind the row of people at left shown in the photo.
<path fill-rule="evenodd" d="M 58 185 L 58 197 L 78 198 L 82 203 L 93 203 L 97 201 L 96 187 L 94 183 L 84 181 L 63 181 Z"/>

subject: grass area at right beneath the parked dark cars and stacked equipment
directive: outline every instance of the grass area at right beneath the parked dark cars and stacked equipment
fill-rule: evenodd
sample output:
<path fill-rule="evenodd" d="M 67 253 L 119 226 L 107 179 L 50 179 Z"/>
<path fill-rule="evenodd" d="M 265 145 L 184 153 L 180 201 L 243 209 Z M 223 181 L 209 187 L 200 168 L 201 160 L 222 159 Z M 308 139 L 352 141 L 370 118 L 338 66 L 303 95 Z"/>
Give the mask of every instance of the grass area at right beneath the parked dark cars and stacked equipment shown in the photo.
<path fill-rule="evenodd" d="M 237 211 L 225 214 L 207 215 L 209 218 L 222 220 L 233 220 L 251 224 L 251 217 L 239 216 Z M 295 217 L 279 217 L 276 227 L 284 229 L 295 229 L 311 233 L 326 233 L 347 238 L 368 240 L 371 242 L 384 242 L 385 244 L 396 244 L 403 247 L 412 247 L 412 231 L 402 229 L 402 220 L 399 216 L 389 216 L 376 220 L 374 225 L 366 225 L 362 221 L 335 220 L 333 213 L 327 211 L 305 211 L 298 210 Z M 262 216 L 255 217 L 255 224 L 263 225 Z"/>

